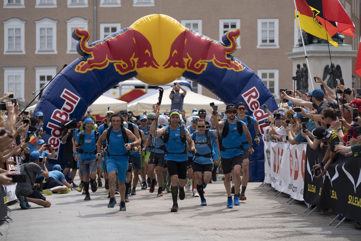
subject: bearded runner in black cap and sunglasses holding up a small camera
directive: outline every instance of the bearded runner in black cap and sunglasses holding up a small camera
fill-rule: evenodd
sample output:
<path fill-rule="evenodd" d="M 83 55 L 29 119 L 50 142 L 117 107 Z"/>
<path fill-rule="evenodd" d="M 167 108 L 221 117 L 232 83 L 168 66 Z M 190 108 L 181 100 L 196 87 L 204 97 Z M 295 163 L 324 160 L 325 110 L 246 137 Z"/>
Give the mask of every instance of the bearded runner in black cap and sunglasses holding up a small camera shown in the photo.
<path fill-rule="evenodd" d="M 226 107 L 227 120 L 217 121 L 217 114 L 213 115 L 213 124 L 219 129 L 219 133 L 222 133 L 222 146 L 221 149 L 221 161 L 223 173 L 225 174 L 224 185 L 227 191 L 227 208 L 233 207 L 231 197 L 231 171 L 234 171 L 234 205 L 239 205 L 239 187 L 241 183 L 240 171 L 242 168 L 242 155 L 243 155 L 243 138 L 242 134 L 245 133 L 248 144 L 249 153 L 253 153 L 252 137 L 247 129 L 247 125 L 243 121 L 236 119 L 237 109 L 234 104 L 228 104 Z M 242 126 L 242 129 L 239 128 Z M 228 131 L 227 131 L 228 130 Z M 241 134 L 242 133 L 242 134 Z"/>

